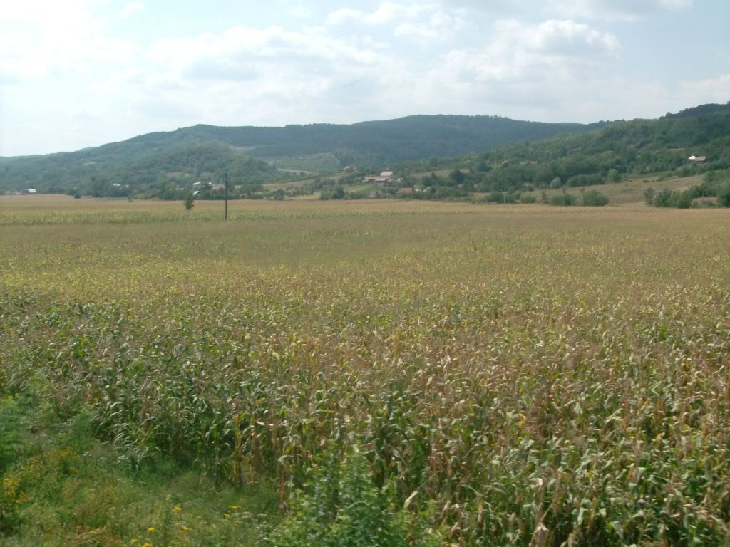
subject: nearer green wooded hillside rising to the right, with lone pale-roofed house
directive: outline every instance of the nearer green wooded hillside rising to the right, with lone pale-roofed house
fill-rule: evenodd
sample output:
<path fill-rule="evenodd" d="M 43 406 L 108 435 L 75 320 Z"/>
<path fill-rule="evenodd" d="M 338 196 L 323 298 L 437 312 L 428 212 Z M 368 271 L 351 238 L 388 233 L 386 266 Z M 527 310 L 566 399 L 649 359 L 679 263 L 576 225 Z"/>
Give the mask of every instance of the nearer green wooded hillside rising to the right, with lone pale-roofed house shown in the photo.
<path fill-rule="evenodd" d="M 706 156 L 695 162 L 690 156 Z M 509 144 L 479 156 L 454 160 L 450 174 L 415 175 L 409 182 L 431 193 L 465 197 L 617 183 L 658 174 L 693 176 L 730 168 L 730 105 L 702 105 L 658 120 L 612 123 L 580 135 Z M 426 164 L 420 166 L 426 168 Z M 438 190 L 438 193 L 436 192 Z"/>

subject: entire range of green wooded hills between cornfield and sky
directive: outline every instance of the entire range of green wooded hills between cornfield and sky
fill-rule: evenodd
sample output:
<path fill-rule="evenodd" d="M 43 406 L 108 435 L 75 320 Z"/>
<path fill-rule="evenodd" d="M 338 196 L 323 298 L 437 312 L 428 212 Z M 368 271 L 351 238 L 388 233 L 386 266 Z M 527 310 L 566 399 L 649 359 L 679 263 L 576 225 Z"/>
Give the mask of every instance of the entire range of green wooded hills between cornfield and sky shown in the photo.
<path fill-rule="evenodd" d="M 688 161 L 691 155 L 707 160 Z M 437 199 L 493 193 L 504 201 L 504 193 L 604 185 L 630 176 L 693 176 L 730 168 L 730 104 L 592 125 L 447 115 L 284 128 L 196 125 L 77 152 L 0 158 L 0 191 L 35 187 L 180 198 L 201 190 L 199 198 L 216 198 L 227 172 L 234 197 L 283 198 L 334 185 L 350 186 L 350 197 L 369 194 L 373 188 L 353 187 L 360 184 L 358 174 L 316 179 L 347 165 L 361 172 L 395 168 L 402 185 L 431 188 L 418 197 Z M 431 174 L 435 168 L 447 170 Z M 288 184 L 304 179 L 315 180 Z M 272 188 L 276 196 L 269 195 Z"/>

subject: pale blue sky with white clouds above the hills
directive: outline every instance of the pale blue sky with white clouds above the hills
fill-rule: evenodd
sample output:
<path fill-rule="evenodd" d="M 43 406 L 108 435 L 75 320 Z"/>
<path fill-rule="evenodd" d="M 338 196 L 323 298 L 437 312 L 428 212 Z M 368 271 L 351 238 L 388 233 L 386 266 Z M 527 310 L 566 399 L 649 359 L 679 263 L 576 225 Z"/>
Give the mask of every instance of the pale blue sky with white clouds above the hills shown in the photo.
<path fill-rule="evenodd" d="M 730 101 L 727 0 L 3 0 L 0 156 L 198 123 L 545 122 Z"/>

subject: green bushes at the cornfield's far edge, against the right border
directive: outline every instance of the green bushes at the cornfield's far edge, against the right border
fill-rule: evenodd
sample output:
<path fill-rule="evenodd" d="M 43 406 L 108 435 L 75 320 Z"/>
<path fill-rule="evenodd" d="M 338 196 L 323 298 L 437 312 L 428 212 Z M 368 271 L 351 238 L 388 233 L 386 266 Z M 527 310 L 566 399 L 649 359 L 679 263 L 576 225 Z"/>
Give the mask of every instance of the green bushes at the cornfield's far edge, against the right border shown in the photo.
<path fill-rule="evenodd" d="M 702 184 L 686 190 L 664 188 L 657 192 L 653 188 L 648 188 L 644 193 L 644 201 L 647 205 L 655 207 L 677 209 L 689 209 L 694 206 L 730 207 L 730 169 L 710 171 L 705 175 Z"/>

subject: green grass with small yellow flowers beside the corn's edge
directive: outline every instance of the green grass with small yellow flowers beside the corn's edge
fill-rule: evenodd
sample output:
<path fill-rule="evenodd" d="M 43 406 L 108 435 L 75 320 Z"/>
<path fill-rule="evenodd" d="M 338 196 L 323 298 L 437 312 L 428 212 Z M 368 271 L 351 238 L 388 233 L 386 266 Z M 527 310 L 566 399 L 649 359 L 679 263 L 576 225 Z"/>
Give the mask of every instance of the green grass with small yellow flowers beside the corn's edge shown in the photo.
<path fill-rule="evenodd" d="M 194 469 L 150 459 L 131 472 L 109 444 L 91 435 L 83 412 L 59 422 L 43 401 L 6 398 L 0 416 L 18 443 L 2 476 L 0 544 L 4 546 L 260 545 L 275 492 L 216 486 Z"/>

